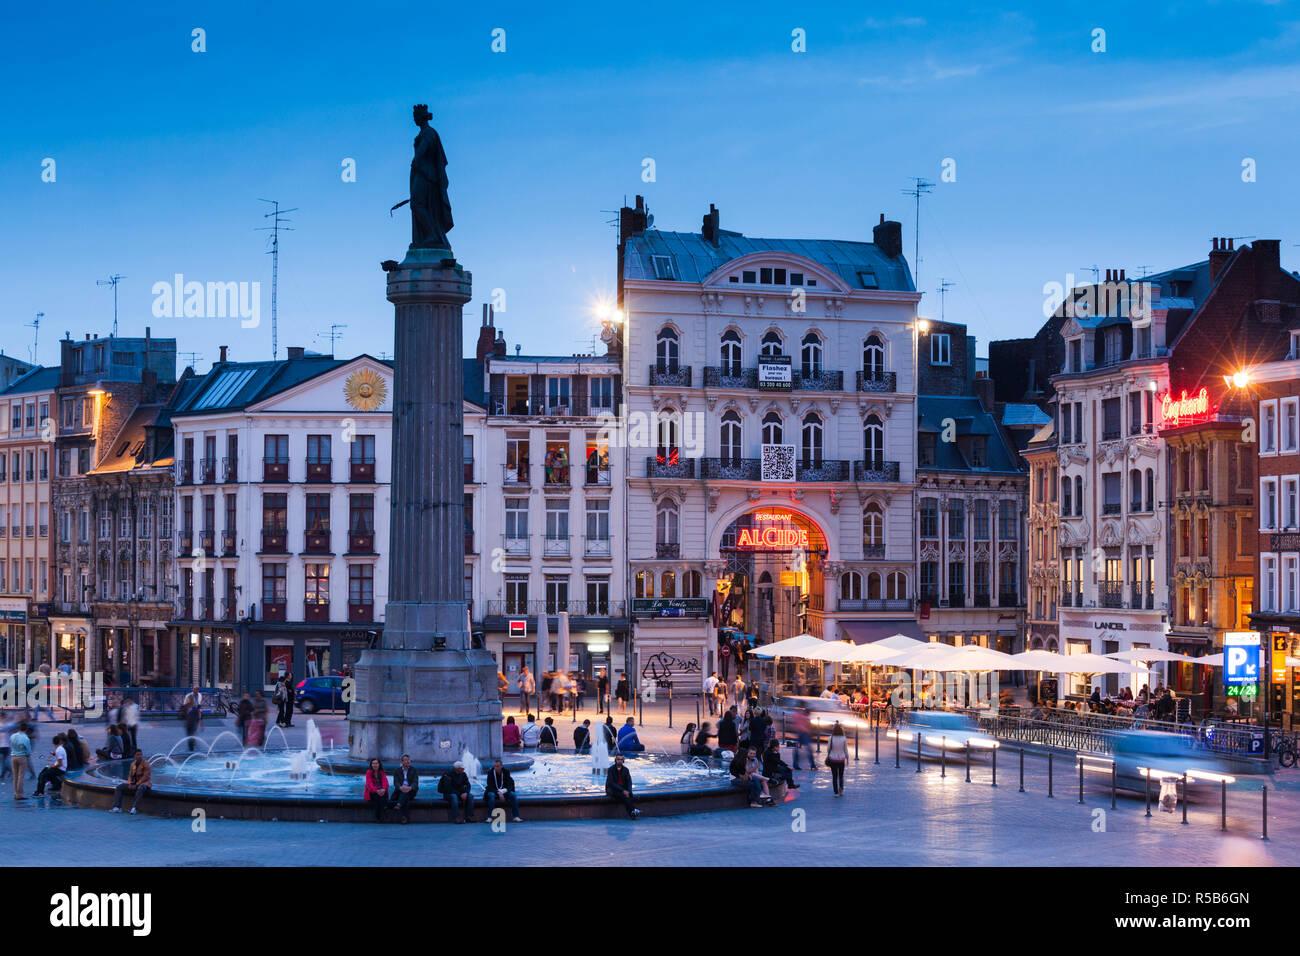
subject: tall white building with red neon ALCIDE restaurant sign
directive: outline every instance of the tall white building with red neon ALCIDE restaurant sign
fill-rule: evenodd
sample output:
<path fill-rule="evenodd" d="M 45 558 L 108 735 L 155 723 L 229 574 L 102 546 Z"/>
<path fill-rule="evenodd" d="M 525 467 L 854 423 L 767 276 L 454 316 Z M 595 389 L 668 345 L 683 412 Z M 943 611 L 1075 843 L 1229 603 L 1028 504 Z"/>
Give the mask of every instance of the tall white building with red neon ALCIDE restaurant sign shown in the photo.
<path fill-rule="evenodd" d="M 754 239 L 620 215 L 637 682 L 719 639 L 915 631 L 915 310 L 902 230 Z"/>

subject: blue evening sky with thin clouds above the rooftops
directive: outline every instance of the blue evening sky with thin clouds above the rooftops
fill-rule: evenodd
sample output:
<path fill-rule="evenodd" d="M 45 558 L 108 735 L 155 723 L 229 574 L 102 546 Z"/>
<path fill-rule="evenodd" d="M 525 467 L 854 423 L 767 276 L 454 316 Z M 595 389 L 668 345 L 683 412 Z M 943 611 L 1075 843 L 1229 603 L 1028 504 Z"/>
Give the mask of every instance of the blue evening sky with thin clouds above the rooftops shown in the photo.
<path fill-rule="evenodd" d="M 714 202 L 753 235 L 870 239 L 887 212 L 910 259 L 913 176 L 936 182 L 922 311 L 937 316 L 942 277 L 948 319 L 982 343 L 1030 334 L 1044 284 L 1086 267 L 1180 265 L 1212 235 L 1280 238 L 1296 267 L 1297 53 L 1284 3 L 9 3 L 0 347 L 26 356 L 38 311 L 47 363 L 65 330 L 107 333 L 95 281 L 117 272 L 122 334 L 174 334 L 200 371 L 221 343 L 269 358 L 265 303 L 257 329 L 151 316 L 174 273 L 260 280 L 269 303 L 266 196 L 299 207 L 281 355 L 325 347 L 332 323 L 339 354 L 390 350 L 378 263 L 410 239 L 387 209 L 416 101 L 450 157 L 468 349 L 494 287 L 511 346 L 589 349 L 592 303 L 615 285 L 608 220 L 637 193 L 664 229 L 698 229 Z"/>

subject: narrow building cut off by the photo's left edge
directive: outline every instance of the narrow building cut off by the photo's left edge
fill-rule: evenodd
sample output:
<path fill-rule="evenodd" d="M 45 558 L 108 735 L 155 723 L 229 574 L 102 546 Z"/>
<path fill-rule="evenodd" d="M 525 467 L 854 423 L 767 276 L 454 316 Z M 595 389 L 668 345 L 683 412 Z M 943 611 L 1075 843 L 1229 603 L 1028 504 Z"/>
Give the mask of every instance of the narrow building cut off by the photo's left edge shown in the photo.
<path fill-rule="evenodd" d="M 0 670 L 49 657 L 51 488 L 57 368 L 30 368 L 0 392 Z"/>

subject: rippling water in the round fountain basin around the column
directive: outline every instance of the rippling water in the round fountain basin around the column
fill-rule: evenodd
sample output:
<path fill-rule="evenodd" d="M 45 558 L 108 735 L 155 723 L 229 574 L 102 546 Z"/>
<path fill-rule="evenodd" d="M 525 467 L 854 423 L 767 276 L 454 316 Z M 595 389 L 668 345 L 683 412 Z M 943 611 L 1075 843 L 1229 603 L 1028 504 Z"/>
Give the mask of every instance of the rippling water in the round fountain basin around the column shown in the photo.
<path fill-rule="evenodd" d="M 361 800 L 361 779 L 355 774 L 315 769 L 295 779 L 291 765 L 302 750 L 242 756 L 217 752 L 187 757 L 183 763 L 160 758 L 153 766 L 153 787 L 140 801 L 140 812 L 191 817 L 203 810 L 222 819 L 372 822 L 373 808 Z M 242 756 L 242 760 L 240 760 Z M 341 757 L 343 754 L 339 754 Z M 592 757 L 532 754 L 533 765 L 512 771 L 525 819 L 625 819 L 623 808 L 604 796 L 604 775 L 592 774 Z M 320 757 L 325 765 L 328 756 Z M 238 763 L 231 771 L 228 763 Z M 130 761 L 107 761 L 69 777 L 64 799 L 79 806 L 107 809 L 113 792 L 126 779 Z M 731 783 L 725 767 L 673 757 L 628 758 L 642 816 L 745 806 L 746 795 Z M 391 770 L 389 770 L 391 774 Z M 473 782 L 474 816 L 484 819 L 482 779 Z M 447 821 L 446 804 L 437 792 L 437 777 L 421 775 L 420 793 L 411 804 L 412 822 Z"/>

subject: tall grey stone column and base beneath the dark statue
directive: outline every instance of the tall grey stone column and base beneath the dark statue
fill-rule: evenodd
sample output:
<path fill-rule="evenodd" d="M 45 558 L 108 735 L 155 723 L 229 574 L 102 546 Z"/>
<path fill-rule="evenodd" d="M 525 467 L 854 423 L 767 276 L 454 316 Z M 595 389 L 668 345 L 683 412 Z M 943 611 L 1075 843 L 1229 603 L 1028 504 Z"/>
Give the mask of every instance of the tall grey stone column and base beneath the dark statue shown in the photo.
<path fill-rule="evenodd" d="M 347 762 L 395 766 L 408 753 L 417 767 L 442 770 L 468 749 L 488 763 L 502 756 L 497 662 L 471 646 L 463 596 L 460 356 L 471 276 L 450 250 L 411 248 L 385 268 L 396 312 L 389 602 L 381 646 L 356 663 Z"/>

